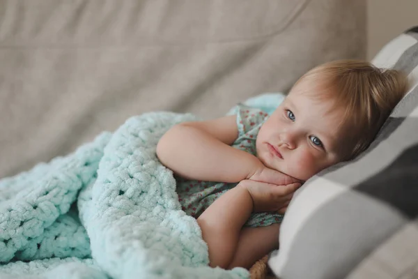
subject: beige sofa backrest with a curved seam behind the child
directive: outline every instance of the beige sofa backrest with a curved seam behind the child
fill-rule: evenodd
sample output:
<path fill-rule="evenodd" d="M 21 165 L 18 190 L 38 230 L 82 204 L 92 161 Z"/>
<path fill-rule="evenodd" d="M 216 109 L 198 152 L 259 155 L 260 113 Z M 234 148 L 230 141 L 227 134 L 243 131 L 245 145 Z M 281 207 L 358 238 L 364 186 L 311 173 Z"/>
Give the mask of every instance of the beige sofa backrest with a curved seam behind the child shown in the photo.
<path fill-rule="evenodd" d="M 0 1 L 0 177 L 153 110 L 224 114 L 364 58 L 362 0 Z"/>

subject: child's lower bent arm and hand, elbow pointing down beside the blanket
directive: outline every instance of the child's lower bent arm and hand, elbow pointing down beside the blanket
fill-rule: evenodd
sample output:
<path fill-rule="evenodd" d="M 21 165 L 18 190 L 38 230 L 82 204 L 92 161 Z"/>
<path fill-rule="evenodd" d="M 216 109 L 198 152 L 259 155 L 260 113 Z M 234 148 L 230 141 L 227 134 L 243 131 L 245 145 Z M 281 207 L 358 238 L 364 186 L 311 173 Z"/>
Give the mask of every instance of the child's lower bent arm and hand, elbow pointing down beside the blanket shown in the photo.
<path fill-rule="evenodd" d="M 250 241 L 265 243 L 254 245 L 254 257 L 275 247 L 274 229 L 242 229 L 252 211 L 278 211 L 287 206 L 300 183 L 276 186 L 258 181 L 241 181 L 238 186 L 216 199 L 197 219 L 203 239 L 208 243 L 210 266 L 247 266 L 253 256 L 237 255 L 237 249 Z M 274 228 L 274 227 L 273 227 Z M 258 239 L 260 237 L 260 239 Z M 238 241 L 242 242 L 238 245 Z M 263 240 L 264 241 L 264 240 Z"/>

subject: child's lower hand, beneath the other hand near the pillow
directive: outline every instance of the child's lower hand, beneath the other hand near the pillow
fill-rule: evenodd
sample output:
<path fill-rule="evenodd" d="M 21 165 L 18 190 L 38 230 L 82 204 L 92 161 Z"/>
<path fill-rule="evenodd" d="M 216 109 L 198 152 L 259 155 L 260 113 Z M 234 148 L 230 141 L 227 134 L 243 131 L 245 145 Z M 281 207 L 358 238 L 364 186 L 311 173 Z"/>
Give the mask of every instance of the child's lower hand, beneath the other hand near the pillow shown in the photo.
<path fill-rule="evenodd" d="M 293 197 L 293 193 L 300 187 L 300 182 L 277 186 L 253 180 L 243 180 L 238 187 L 246 188 L 253 200 L 254 212 L 279 211 L 284 213 Z"/>

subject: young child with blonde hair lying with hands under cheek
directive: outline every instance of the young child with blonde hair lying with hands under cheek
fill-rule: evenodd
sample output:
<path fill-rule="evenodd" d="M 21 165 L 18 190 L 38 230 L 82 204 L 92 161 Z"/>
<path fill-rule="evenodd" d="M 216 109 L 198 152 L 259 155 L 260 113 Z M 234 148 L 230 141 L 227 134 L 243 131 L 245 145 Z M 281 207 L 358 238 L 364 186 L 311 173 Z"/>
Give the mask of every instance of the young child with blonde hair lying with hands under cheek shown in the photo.
<path fill-rule="evenodd" d="M 320 170 L 364 151 L 405 93 L 406 79 L 366 61 L 325 63 L 303 75 L 277 110 L 181 123 L 157 145 L 197 218 L 210 266 L 249 268 L 277 248 L 293 193 Z"/>

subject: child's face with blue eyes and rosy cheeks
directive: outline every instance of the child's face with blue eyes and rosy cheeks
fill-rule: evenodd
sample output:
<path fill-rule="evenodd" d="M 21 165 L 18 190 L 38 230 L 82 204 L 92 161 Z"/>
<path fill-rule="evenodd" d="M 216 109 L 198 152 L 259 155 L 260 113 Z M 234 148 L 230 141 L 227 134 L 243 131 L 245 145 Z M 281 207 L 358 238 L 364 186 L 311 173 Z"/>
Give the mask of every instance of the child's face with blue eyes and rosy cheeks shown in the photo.
<path fill-rule="evenodd" d="M 348 130 L 339 125 L 343 110 L 330 112 L 334 102 L 315 98 L 318 89 L 301 81 L 265 121 L 256 150 L 266 167 L 306 181 L 342 160 L 341 144 L 346 144 Z"/>

